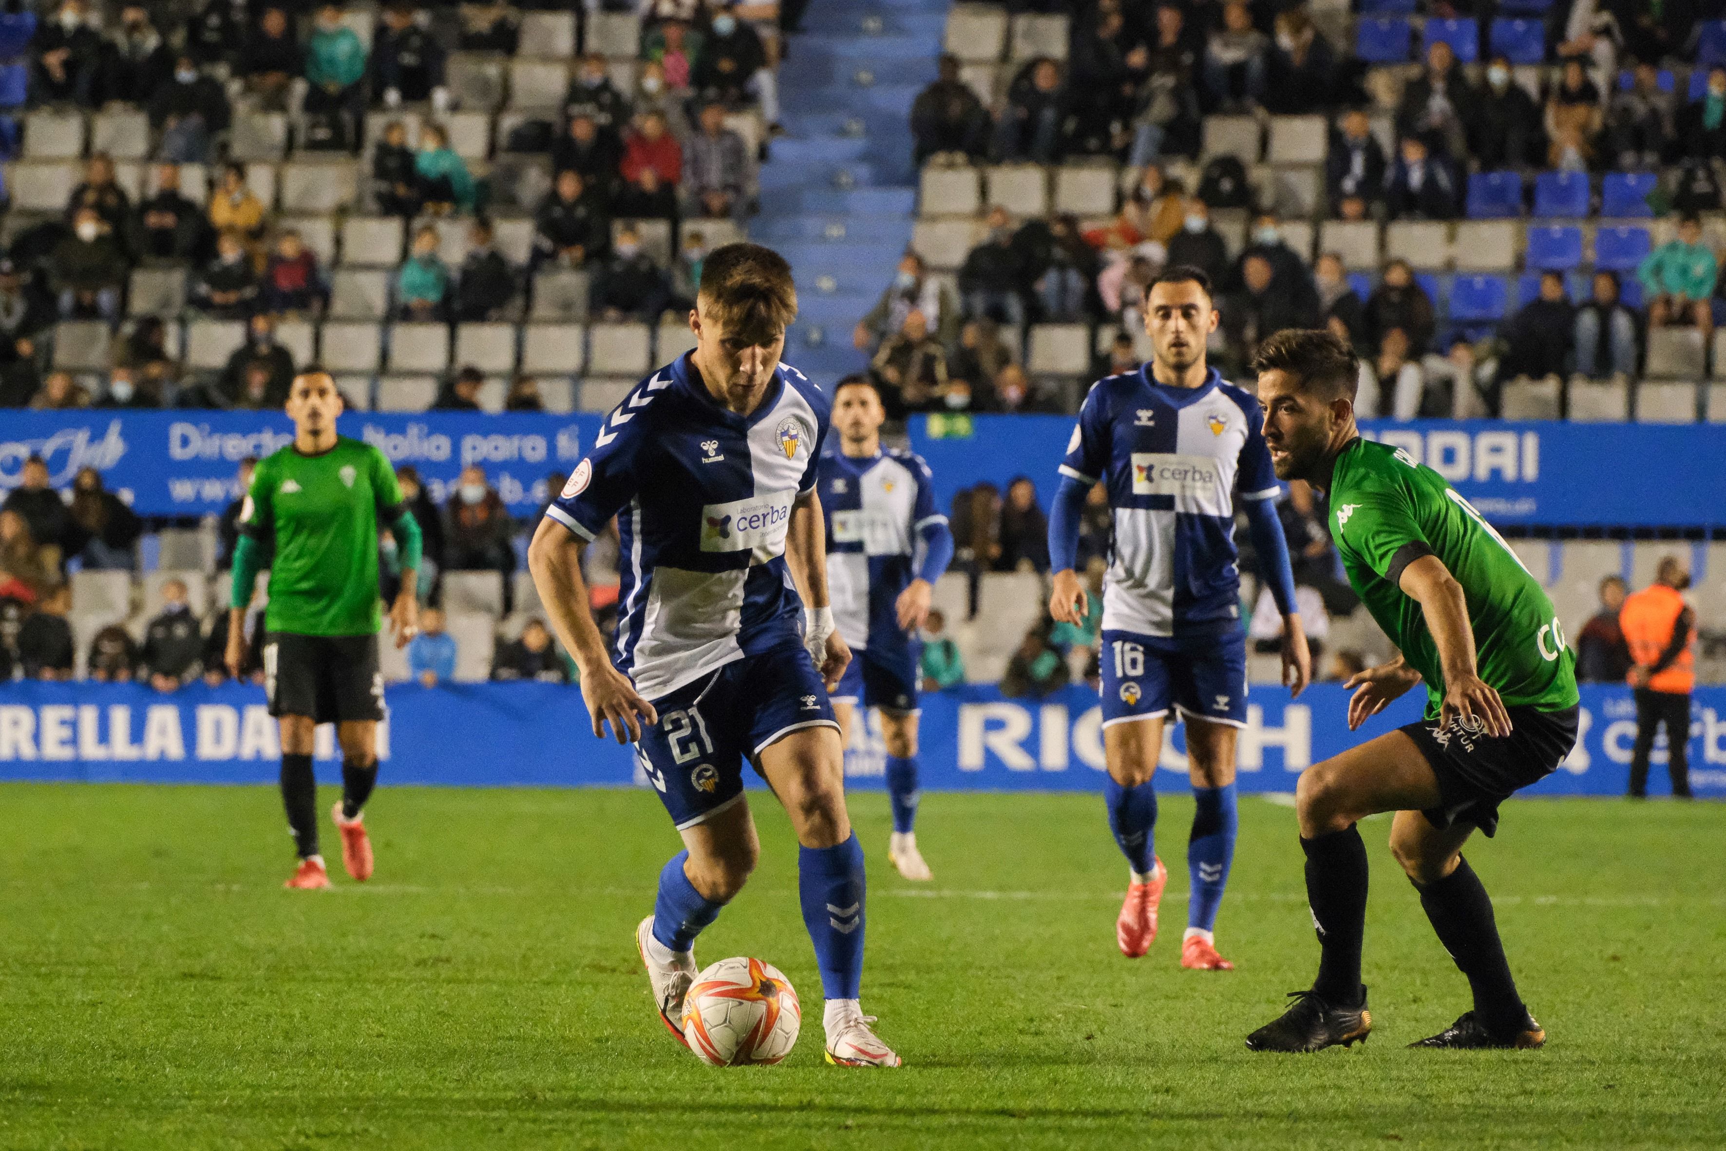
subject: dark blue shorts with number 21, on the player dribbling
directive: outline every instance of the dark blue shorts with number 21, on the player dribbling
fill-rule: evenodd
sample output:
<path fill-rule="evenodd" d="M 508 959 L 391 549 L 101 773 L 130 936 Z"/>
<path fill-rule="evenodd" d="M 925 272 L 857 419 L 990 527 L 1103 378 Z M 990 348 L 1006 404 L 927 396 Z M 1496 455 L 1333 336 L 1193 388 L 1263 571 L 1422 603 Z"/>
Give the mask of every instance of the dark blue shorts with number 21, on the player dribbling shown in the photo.
<path fill-rule="evenodd" d="M 734 659 L 652 701 L 659 723 L 642 730 L 635 761 L 678 830 L 706 821 L 744 794 L 744 759 L 808 726 L 830 726 L 815 661 L 801 642 Z M 759 771 L 759 766 L 756 768 Z"/>

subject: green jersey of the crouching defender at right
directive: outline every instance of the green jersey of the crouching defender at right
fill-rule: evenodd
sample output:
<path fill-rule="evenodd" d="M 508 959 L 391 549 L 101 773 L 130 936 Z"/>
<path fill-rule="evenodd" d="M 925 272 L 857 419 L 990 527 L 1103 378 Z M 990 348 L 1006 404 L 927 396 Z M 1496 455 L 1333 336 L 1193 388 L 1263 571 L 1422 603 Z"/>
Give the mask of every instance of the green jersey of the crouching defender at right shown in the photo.
<path fill-rule="evenodd" d="M 1578 702 L 1576 657 L 1540 582 L 1469 500 L 1405 450 L 1370 440 L 1343 449 L 1331 476 L 1331 538 L 1367 611 L 1426 680 L 1427 718 L 1445 699 L 1445 673 L 1420 604 L 1398 587 L 1422 556 L 1438 556 L 1462 585 L 1479 676 L 1507 706 Z"/>

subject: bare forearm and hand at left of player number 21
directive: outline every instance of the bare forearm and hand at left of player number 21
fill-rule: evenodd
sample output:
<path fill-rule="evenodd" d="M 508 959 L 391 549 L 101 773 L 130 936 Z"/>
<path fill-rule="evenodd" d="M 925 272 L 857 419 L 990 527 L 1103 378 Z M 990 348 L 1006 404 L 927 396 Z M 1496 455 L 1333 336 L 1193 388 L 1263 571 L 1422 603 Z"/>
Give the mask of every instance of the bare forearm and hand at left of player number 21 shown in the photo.
<path fill-rule="evenodd" d="M 659 713 L 606 656 L 606 638 L 587 606 L 582 547 L 575 533 L 547 516 L 528 544 L 528 571 L 533 573 L 533 587 L 539 588 L 552 630 L 582 671 L 582 699 L 587 701 L 594 735 L 604 739 L 609 723 L 620 744 L 633 744 L 642 737 L 642 723 L 652 726 L 659 721 Z"/>

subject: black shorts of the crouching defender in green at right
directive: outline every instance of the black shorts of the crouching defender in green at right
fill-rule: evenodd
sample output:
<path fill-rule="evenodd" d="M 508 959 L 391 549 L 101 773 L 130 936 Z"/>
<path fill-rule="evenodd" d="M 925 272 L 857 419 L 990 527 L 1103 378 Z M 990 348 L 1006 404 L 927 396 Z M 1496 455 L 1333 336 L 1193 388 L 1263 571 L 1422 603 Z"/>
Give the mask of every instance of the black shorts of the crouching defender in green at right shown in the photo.
<path fill-rule="evenodd" d="M 1438 777 L 1443 802 L 1420 813 L 1433 827 L 1472 823 L 1491 835 L 1498 830 L 1498 804 L 1557 771 L 1576 745 L 1576 708 L 1540 711 L 1507 706 L 1505 711 L 1510 713 L 1507 739 L 1481 733 L 1476 718 L 1452 720 L 1443 730 L 1436 720 L 1398 728 L 1415 742 Z"/>

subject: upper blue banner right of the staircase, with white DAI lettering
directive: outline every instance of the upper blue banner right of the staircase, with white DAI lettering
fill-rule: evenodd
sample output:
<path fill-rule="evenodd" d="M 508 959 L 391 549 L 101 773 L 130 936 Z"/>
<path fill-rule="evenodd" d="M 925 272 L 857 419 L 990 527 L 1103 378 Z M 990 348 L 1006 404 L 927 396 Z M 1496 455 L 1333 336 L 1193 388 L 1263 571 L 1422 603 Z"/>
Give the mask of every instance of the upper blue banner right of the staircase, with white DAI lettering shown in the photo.
<path fill-rule="evenodd" d="M 911 447 L 935 473 L 941 507 L 979 480 L 1005 490 L 1017 475 L 1030 476 L 1046 500 L 1074 421 L 973 416 L 970 435 L 954 435 L 961 428 L 944 416 L 911 421 Z M 1726 425 L 1372 419 L 1362 435 L 1429 464 L 1496 525 L 1726 523 Z"/>

